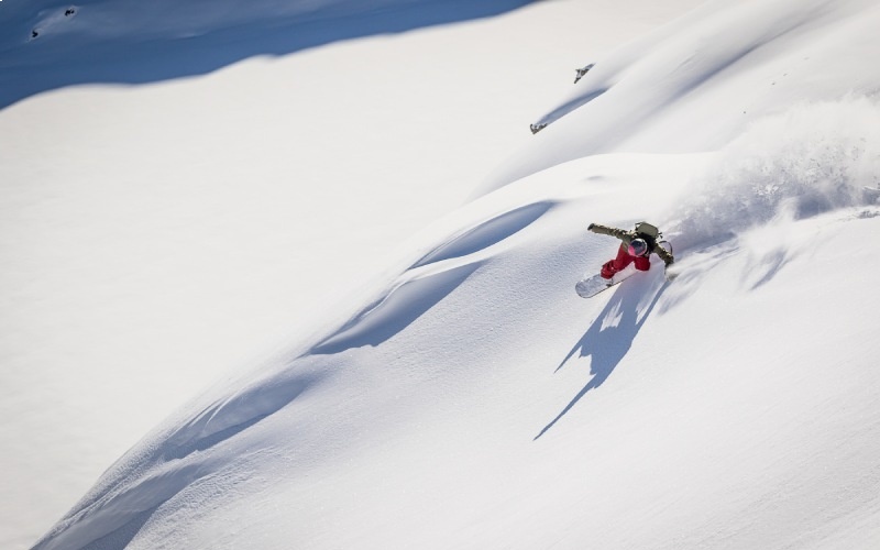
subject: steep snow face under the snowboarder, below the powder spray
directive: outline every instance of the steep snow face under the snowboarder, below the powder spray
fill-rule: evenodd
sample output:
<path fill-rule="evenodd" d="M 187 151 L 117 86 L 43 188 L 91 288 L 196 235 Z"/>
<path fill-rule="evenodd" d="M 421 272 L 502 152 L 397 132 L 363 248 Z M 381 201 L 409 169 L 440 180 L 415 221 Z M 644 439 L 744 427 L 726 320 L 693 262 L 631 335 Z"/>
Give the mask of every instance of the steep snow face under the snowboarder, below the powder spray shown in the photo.
<path fill-rule="evenodd" d="M 838 284 L 878 208 L 692 246 L 672 284 L 573 295 L 614 251 L 584 218 L 624 224 L 631 193 L 707 163 L 593 157 L 471 205 L 460 237 L 429 239 L 442 260 L 417 252 L 310 351 L 169 419 L 38 548 L 877 540 L 875 327 L 833 323 L 880 305 L 859 292 L 872 258 Z"/>

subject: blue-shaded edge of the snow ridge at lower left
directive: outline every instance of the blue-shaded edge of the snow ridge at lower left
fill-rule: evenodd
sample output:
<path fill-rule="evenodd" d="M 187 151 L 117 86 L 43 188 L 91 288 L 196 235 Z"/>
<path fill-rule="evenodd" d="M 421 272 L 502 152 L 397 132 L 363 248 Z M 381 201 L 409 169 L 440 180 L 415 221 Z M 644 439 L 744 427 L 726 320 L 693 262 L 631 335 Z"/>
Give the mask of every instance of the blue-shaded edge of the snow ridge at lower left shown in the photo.
<path fill-rule="evenodd" d="M 222 473 L 229 461 L 216 460 L 209 451 L 289 406 L 322 378 L 321 374 L 287 370 L 212 403 L 167 436 L 147 436 L 111 466 L 33 550 L 128 548 L 156 512 L 180 493 L 198 491 L 206 480 L 211 480 L 212 491 L 235 483 L 234 476 Z M 292 428 L 290 437 L 296 437 L 295 432 Z M 253 452 L 257 451 L 254 448 Z M 239 453 L 234 461 L 243 468 L 248 458 Z"/>

